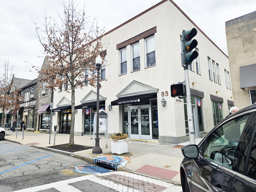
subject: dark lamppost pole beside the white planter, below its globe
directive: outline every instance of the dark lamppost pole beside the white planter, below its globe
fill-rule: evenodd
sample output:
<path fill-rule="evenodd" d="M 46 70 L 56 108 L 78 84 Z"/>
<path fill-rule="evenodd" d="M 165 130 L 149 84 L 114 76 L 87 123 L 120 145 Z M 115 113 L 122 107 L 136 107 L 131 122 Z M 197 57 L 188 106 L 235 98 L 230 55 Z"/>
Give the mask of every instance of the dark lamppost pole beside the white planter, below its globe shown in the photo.
<path fill-rule="evenodd" d="M 96 63 L 97 64 L 97 63 Z M 99 92 L 100 92 L 100 68 L 97 68 L 97 115 L 96 115 L 96 138 L 95 138 L 95 147 L 92 149 L 92 153 L 98 154 L 102 153 L 100 148 L 100 138 L 99 138 Z"/>

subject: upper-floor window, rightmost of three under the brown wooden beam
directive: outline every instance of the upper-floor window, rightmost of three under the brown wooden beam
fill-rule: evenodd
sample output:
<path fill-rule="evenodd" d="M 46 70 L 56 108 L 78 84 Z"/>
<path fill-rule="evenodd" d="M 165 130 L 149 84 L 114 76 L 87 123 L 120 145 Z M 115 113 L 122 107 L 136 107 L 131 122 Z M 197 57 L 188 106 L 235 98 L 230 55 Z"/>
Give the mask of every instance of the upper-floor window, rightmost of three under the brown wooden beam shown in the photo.
<path fill-rule="evenodd" d="M 155 36 L 145 40 L 146 42 L 146 67 L 155 65 Z"/>

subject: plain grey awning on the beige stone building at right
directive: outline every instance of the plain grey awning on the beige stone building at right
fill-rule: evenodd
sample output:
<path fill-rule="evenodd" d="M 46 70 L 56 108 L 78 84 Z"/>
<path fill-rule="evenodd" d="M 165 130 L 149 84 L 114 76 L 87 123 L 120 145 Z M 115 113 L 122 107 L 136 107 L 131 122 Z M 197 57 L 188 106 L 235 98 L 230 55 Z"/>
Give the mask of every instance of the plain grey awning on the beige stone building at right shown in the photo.
<path fill-rule="evenodd" d="M 240 67 L 240 88 L 256 86 L 256 64 Z"/>

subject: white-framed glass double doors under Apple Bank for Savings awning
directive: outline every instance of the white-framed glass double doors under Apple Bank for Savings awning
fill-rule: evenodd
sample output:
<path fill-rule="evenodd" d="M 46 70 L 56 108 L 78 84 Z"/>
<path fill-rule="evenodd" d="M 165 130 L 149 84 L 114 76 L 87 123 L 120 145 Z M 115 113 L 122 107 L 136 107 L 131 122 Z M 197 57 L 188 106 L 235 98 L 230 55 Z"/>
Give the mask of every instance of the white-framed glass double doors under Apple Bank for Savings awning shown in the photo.
<path fill-rule="evenodd" d="M 152 139 L 150 106 L 130 107 L 130 138 Z"/>

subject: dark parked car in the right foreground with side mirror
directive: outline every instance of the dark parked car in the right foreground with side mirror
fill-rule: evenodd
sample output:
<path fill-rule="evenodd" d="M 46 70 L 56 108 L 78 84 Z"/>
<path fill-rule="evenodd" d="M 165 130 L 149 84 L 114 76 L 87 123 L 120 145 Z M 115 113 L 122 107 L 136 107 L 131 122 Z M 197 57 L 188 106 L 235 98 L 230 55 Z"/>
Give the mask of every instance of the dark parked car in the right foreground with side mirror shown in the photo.
<path fill-rule="evenodd" d="M 182 148 L 183 191 L 256 191 L 256 104 L 233 113 L 199 145 Z"/>

